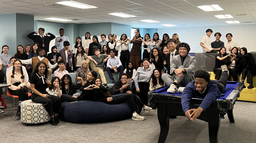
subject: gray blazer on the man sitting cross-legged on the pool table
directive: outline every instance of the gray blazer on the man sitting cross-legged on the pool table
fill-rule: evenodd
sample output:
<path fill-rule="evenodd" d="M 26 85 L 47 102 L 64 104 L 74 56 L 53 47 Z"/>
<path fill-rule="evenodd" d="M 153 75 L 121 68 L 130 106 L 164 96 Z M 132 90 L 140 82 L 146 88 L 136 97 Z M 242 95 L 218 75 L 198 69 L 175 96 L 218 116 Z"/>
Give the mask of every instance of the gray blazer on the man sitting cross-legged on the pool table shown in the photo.
<path fill-rule="evenodd" d="M 183 62 L 183 65 L 182 65 L 181 56 L 176 55 L 173 57 L 173 60 L 171 63 L 171 73 L 173 74 L 173 71 L 175 69 L 179 68 L 180 66 L 183 66 L 184 69 L 186 70 L 186 73 L 193 76 L 192 72 L 194 71 L 196 64 L 197 64 L 196 58 L 192 57 L 188 54 L 186 59 Z M 175 74 L 173 74 L 173 75 L 175 75 Z M 194 76 L 193 76 L 193 78 L 194 78 Z"/>

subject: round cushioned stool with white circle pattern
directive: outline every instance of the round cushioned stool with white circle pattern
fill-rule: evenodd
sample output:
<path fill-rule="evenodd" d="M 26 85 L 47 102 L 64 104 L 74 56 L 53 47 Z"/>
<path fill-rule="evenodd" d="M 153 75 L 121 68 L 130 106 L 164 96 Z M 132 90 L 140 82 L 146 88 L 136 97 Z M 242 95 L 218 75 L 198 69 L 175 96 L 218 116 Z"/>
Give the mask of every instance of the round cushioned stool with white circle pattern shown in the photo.
<path fill-rule="evenodd" d="M 21 122 L 28 124 L 44 124 L 50 120 L 49 113 L 40 103 L 33 103 L 32 100 L 21 102 Z"/>

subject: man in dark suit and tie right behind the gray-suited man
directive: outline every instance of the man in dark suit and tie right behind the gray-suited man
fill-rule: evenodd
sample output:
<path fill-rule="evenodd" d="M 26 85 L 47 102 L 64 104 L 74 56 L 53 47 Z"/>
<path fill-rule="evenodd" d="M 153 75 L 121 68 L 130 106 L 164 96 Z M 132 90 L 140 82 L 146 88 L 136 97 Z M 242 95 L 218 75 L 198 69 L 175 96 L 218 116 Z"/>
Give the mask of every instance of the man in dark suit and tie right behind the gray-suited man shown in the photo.
<path fill-rule="evenodd" d="M 176 46 L 177 46 L 177 44 L 176 44 L 175 39 L 169 39 L 167 41 L 167 48 L 170 51 L 170 53 L 165 56 L 165 62 L 164 62 L 165 65 L 164 66 L 165 66 L 165 68 L 167 68 L 166 73 L 168 75 L 171 75 L 170 67 L 171 67 L 171 61 L 172 61 L 173 57 L 179 54 L 179 51 L 176 50 Z"/>

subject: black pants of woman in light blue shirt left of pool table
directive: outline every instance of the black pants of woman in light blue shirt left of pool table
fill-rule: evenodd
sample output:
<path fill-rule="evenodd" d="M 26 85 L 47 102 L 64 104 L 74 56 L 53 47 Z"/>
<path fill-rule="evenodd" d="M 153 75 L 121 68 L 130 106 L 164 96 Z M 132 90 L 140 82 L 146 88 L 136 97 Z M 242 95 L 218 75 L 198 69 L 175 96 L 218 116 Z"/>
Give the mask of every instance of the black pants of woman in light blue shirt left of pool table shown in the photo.
<path fill-rule="evenodd" d="M 136 91 L 136 95 L 140 98 L 144 105 L 148 104 L 148 92 L 149 92 L 149 83 L 139 82 L 140 92 Z"/>

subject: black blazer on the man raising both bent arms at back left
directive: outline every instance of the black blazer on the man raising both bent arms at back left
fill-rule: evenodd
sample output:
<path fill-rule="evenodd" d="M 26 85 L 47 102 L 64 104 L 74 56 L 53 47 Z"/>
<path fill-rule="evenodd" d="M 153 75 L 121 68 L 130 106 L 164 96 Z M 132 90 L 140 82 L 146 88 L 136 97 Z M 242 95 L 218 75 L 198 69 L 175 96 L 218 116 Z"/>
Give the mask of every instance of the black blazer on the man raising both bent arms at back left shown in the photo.
<path fill-rule="evenodd" d="M 40 45 L 40 47 L 38 47 L 38 48 L 45 49 L 46 53 L 49 52 L 50 41 L 56 37 L 53 34 L 48 33 L 48 35 L 50 35 L 50 36 L 44 36 L 44 40 L 42 42 L 41 36 L 34 35 L 34 34 L 35 34 L 35 32 L 31 32 L 27 35 L 27 37 L 31 38 L 34 42 L 37 42 Z M 42 43 L 44 43 L 44 47 L 42 47 Z"/>

